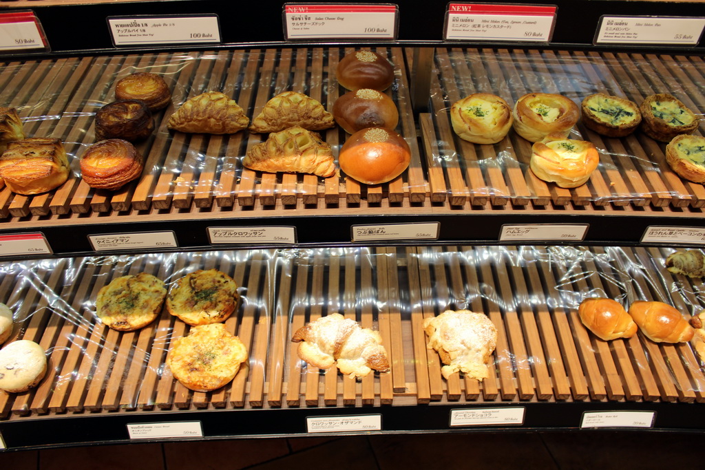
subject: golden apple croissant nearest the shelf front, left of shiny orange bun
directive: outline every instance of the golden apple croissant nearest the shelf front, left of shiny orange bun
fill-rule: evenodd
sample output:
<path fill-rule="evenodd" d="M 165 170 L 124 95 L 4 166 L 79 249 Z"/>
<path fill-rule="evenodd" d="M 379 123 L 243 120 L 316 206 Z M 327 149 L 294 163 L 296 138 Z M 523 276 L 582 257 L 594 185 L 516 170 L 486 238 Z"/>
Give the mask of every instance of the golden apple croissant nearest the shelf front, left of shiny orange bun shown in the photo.
<path fill-rule="evenodd" d="M 270 134 L 247 152 L 243 165 L 269 173 L 312 173 L 323 178 L 333 176 L 337 169 L 331 146 L 316 132 L 298 126 Z"/>

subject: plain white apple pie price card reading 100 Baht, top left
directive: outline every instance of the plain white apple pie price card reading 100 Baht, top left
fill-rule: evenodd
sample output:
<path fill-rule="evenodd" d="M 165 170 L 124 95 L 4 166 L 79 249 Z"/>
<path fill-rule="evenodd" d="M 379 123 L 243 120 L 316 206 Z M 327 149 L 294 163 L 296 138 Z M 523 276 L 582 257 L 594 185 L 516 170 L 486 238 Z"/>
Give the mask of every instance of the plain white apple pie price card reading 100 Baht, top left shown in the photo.
<path fill-rule="evenodd" d="M 108 18 L 115 46 L 221 42 L 217 15 Z"/>

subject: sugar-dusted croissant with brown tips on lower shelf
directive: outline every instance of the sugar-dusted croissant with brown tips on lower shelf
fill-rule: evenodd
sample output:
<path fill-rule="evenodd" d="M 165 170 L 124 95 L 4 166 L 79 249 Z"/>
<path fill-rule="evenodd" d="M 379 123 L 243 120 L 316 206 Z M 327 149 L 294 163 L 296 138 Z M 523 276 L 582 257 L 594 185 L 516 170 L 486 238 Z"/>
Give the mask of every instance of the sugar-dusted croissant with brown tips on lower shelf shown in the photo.
<path fill-rule="evenodd" d="M 365 377 L 372 369 L 389 370 L 379 332 L 362 328 L 341 314 L 330 314 L 299 328 L 291 339 L 299 342 L 298 355 L 319 369 L 337 364 L 350 378 Z"/>

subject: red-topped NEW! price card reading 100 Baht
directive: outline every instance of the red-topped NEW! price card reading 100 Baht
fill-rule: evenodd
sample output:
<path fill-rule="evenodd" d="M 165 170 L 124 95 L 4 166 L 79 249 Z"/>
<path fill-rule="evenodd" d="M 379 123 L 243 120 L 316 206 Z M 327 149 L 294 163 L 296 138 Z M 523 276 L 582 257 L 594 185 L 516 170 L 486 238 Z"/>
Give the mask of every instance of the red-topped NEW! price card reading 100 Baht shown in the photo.
<path fill-rule="evenodd" d="M 395 39 L 392 4 L 284 4 L 284 36 L 299 39 Z"/>

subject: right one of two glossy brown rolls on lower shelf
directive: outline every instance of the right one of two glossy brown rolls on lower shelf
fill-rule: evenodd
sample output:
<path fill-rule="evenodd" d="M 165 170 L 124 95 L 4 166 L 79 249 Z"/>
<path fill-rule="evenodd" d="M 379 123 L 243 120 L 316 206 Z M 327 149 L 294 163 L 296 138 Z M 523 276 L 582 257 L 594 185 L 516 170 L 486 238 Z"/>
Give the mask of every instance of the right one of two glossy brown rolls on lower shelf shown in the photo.
<path fill-rule="evenodd" d="M 629 307 L 629 314 L 646 338 L 654 342 L 686 342 L 694 330 L 680 311 L 663 302 L 639 300 Z"/>

